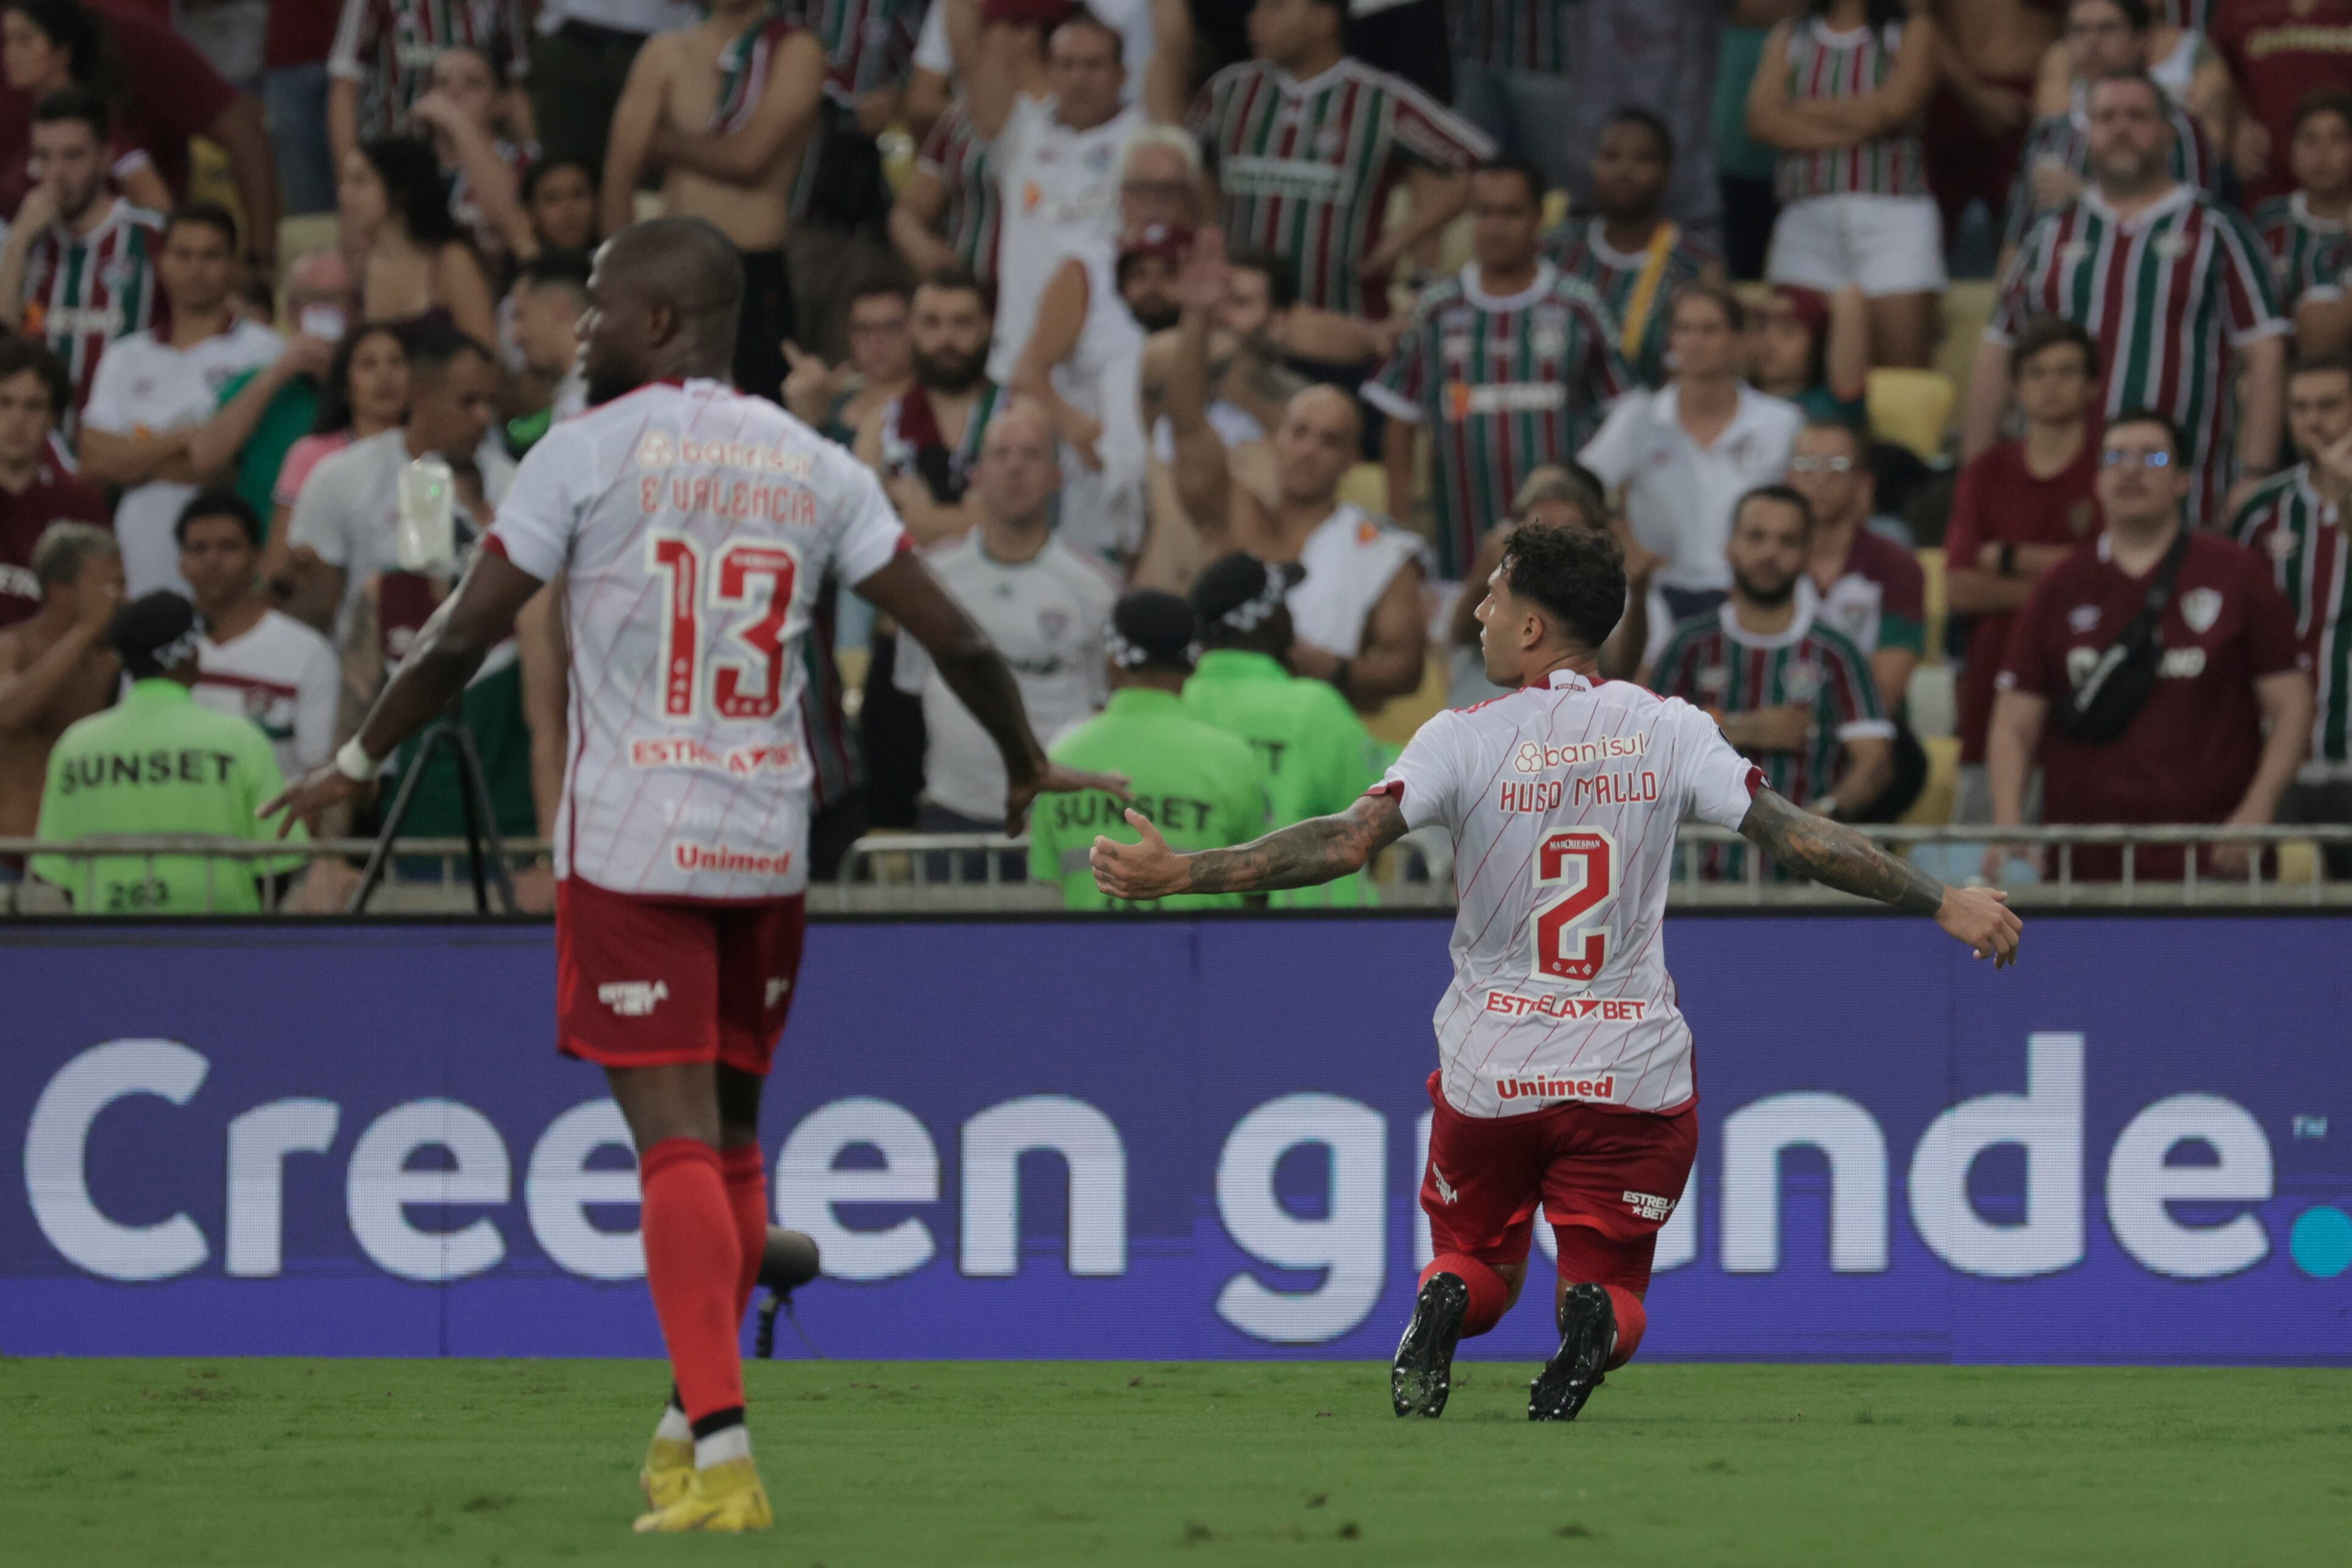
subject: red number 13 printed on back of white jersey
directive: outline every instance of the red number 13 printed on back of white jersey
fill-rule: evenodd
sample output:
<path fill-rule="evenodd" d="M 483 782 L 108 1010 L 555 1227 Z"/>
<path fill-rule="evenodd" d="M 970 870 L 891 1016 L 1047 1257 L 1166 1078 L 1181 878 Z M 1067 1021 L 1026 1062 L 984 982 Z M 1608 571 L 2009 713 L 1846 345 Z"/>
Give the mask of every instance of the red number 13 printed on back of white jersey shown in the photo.
<path fill-rule="evenodd" d="M 661 712 L 668 719 L 701 715 L 703 599 L 717 611 L 746 609 L 757 602 L 757 581 L 769 578 L 767 614 L 734 630 L 753 661 L 710 661 L 710 701 L 722 719 L 776 717 L 783 708 L 783 623 L 800 571 L 793 552 L 746 538 L 724 545 L 717 569 L 706 571 L 701 545 L 684 534 L 656 531 L 644 541 L 644 569 L 668 578 L 668 614 L 661 618 Z"/>

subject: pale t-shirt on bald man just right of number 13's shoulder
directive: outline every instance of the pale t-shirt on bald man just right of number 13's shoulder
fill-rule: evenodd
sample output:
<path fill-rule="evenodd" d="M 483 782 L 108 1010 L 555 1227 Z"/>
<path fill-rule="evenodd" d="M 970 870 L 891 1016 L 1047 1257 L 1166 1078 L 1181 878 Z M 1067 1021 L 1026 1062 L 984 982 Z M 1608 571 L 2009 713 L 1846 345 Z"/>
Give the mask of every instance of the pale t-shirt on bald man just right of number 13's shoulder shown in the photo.
<path fill-rule="evenodd" d="M 1084 719 L 1110 696 L 1103 637 L 1120 590 L 1105 571 L 1054 541 L 1018 564 L 1004 564 L 971 529 L 929 552 L 948 597 L 981 623 L 1004 654 L 1030 731 L 1054 736 Z M 898 691 L 922 693 L 927 745 L 922 795 L 934 806 L 995 823 L 1004 816 L 1004 759 L 971 710 L 948 691 L 938 665 L 913 637 L 898 639 Z"/>

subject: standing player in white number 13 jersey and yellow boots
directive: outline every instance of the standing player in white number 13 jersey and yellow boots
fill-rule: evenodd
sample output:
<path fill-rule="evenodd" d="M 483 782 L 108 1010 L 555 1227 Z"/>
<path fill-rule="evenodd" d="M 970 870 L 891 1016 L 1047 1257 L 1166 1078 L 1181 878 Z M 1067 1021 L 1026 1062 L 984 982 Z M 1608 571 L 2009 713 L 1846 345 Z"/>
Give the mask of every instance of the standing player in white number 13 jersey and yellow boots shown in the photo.
<path fill-rule="evenodd" d="M 1120 788 L 1047 762 L 988 637 L 906 548 L 844 447 L 724 383 L 734 244 L 661 219 L 597 254 L 590 409 L 515 475 L 466 578 L 358 736 L 263 811 L 353 797 L 463 691 L 562 574 L 574 722 L 555 825 L 557 1044 L 604 1067 L 637 1143 L 644 1272 L 675 1371 L 640 1530 L 771 1523 L 736 1335 L 767 1244 L 760 1088 L 793 1001 L 807 889 L 809 635 L 828 574 L 920 642 L 1004 755 L 1007 816 Z"/>

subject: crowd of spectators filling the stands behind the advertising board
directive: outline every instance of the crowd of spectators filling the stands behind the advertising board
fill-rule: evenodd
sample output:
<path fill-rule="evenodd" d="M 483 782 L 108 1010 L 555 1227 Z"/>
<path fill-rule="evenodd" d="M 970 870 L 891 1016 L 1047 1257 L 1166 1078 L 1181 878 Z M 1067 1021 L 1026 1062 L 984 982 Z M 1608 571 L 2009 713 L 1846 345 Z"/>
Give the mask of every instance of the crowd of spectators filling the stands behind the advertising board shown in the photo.
<path fill-rule="evenodd" d="M 1491 696 L 1526 517 L 1621 541 L 1609 677 L 1839 818 L 2352 820 L 2352 0 L 0 0 L 0 837 L 256 832 L 586 404 L 644 212 L 736 242 L 739 386 L 1178 849 Z M 1004 799 L 842 588 L 821 879 Z M 517 837 L 557 628 L 466 696 Z M 270 745 L 151 778 L 191 703 Z M 442 757 L 405 827 L 463 820 Z M 1044 802 L 1028 875 L 1101 905 L 1105 825 Z"/>

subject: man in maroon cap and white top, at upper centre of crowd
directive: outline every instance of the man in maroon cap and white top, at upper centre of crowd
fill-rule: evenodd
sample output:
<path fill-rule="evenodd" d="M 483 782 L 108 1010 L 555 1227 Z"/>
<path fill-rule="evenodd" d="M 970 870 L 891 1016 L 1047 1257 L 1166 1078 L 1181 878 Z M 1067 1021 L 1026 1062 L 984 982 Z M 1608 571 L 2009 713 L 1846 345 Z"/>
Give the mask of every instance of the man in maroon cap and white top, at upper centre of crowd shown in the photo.
<path fill-rule="evenodd" d="M 1047 284 L 1014 364 L 1011 390 L 1061 435 L 1061 536 L 1122 576 L 1145 534 L 1143 339 L 1178 322 L 1174 284 L 1190 249 L 1190 228 L 1157 219 L 1115 249 L 1082 247 Z"/>

